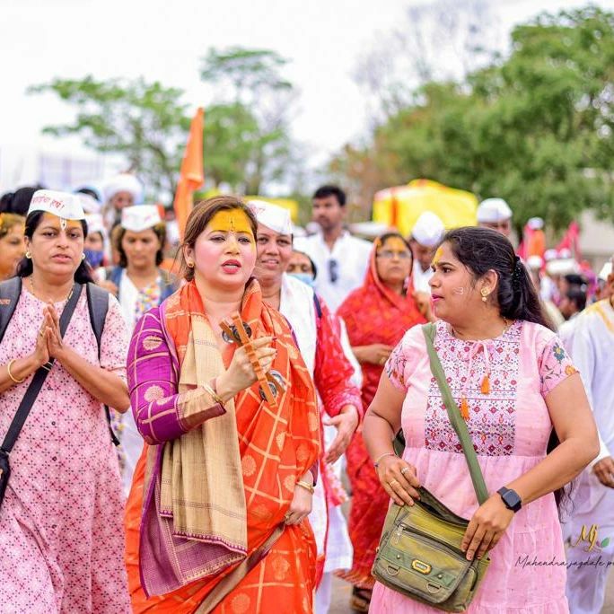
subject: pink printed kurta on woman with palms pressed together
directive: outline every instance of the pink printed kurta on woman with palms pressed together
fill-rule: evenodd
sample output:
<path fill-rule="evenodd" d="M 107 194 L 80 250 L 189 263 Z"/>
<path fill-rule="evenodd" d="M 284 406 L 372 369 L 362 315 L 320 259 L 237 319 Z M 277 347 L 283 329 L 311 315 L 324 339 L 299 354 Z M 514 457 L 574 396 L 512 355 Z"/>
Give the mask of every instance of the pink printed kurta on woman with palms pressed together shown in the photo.
<path fill-rule="evenodd" d="M 57 303 L 58 313 L 66 303 Z M 101 339 L 101 366 L 125 378 L 127 331 L 118 302 Z M 25 288 L 2 343 L 0 364 L 31 354 L 42 303 Z M 85 291 L 65 343 L 98 364 Z M 31 382 L 0 395 L 0 438 Z M 101 404 L 55 364 L 11 453 L 0 508 L 3 614 L 130 611 L 123 563 L 124 499 L 118 460 Z"/>

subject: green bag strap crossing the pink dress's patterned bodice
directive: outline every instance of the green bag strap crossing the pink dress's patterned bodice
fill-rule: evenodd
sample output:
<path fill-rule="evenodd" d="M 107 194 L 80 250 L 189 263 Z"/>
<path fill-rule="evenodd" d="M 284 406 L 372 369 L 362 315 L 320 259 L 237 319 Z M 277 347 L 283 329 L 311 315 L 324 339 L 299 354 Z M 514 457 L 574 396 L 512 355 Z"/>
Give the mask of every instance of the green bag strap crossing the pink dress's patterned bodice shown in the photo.
<path fill-rule="evenodd" d="M 465 454 L 467 465 L 469 466 L 469 474 L 471 475 L 471 481 L 473 482 L 473 488 L 476 491 L 479 504 L 483 504 L 488 498 L 488 490 L 484 476 L 482 475 L 482 469 L 479 467 L 478 455 L 476 454 L 473 442 L 471 441 L 471 435 L 467 429 L 467 425 L 464 419 L 460 416 L 459 406 L 452 397 L 452 390 L 443 373 L 443 366 L 439 360 L 439 356 L 434 348 L 434 338 L 436 327 L 432 322 L 430 324 L 424 324 L 422 332 L 425 335 L 426 351 L 428 352 L 428 358 L 431 361 L 431 371 L 439 386 L 439 391 L 442 393 L 443 403 L 448 410 L 448 417 L 452 423 L 452 427 L 456 431 L 459 437 L 460 445 L 462 446 L 462 452 Z"/>

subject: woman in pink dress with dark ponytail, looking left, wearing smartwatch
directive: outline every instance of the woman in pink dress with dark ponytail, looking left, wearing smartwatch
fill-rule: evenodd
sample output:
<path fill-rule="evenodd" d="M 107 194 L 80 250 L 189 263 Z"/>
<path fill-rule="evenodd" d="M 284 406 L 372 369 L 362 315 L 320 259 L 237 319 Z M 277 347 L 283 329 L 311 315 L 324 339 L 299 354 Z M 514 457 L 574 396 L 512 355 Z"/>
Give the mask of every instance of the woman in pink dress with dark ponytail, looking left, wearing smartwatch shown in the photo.
<path fill-rule="evenodd" d="M 420 327 L 390 355 L 365 417 L 364 441 L 398 504 L 413 504 L 416 487 L 424 486 L 470 520 L 463 540 L 469 560 L 492 549 L 469 612 L 567 612 L 553 491 L 598 452 L 582 381 L 545 326 L 526 270 L 502 235 L 484 228 L 448 232 L 433 264 L 431 293 L 441 319 L 434 346 L 491 496 L 478 505 Z M 399 459 L 390 438 L 401 425 L 406 448 Z M 553 427 L 560 444 L 549 452 Z M 436 610 L 376 583 L 370 611 Z"/>

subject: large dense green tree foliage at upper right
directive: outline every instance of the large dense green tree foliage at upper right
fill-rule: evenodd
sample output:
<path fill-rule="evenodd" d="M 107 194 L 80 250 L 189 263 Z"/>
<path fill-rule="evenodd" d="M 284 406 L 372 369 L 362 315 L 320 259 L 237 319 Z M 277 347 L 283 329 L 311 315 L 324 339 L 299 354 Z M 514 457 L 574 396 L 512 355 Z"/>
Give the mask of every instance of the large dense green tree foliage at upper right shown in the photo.
<path fill-rule="evenodd" d="M 504 197 L 519 225 L 541 215 L 562 228 L 588 207 L 614 216 L 614 14 L 544 14 L 512 40 L 504 61 L 426 84 L 376 128 L 360 154 L 391 167 L 373 189 L 427 177 Z"/>

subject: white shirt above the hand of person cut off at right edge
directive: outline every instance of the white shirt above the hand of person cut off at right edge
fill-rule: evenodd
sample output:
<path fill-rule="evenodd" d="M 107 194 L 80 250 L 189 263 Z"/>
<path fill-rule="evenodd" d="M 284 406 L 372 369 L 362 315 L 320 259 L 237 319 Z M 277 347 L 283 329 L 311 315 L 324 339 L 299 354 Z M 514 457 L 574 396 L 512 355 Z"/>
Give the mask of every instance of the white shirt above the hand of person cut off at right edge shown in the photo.
<path fill-rule="evenodd" d="M 594 464 L 614 455 L 614 310 L 609 300 L 592 304 L 575 320 L 571 355 L 600 435 L 601 450 Z"/>

